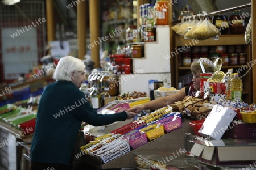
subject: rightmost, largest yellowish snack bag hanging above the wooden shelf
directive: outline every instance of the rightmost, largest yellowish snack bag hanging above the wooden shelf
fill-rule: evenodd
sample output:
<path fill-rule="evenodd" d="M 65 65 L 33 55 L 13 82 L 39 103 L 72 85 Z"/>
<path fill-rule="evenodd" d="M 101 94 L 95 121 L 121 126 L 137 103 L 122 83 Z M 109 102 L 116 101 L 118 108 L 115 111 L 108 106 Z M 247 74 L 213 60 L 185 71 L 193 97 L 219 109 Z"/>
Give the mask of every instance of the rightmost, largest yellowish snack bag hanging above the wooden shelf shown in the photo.
<path fill-rule="evenodd" d="M 201 25 L 197 27 L 193 34 L 198 36 L 201 40 L 203 40 L 220 35 L 220 31 L 218 30 L 217 27 L 210 23 L 209 20 L 207 20 L 207 18 L 205 18 L 203 23 L 201 23 Z"/>

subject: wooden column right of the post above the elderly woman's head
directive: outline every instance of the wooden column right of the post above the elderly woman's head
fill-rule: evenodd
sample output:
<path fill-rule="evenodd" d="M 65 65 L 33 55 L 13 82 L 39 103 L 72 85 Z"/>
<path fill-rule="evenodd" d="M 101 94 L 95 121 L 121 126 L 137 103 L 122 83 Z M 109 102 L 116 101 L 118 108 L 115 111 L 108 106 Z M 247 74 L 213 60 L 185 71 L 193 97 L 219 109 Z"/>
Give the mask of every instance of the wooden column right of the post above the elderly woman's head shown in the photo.
<path fill-rule="evenodd" d="M 94 46 L 90 49 L 90 54 L 96 68 L 100 67 L 100 45 L 103 42 L 100 37 L 99 13 L 98 0 L 89 0 L 90 44 Z"/>

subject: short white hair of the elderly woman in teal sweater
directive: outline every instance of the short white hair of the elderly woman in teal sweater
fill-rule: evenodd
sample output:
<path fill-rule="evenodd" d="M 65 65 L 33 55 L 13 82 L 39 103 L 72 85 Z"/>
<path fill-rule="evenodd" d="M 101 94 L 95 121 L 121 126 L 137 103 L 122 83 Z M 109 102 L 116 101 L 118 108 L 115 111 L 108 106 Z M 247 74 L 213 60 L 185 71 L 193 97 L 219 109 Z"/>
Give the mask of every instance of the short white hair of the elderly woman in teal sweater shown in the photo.
<path fill-rule="evenodd" d="M 53 73 L 53 79 L 57 81 L 71 81 L 71 73 L 73 71 L 84 71 L 85 65 L 81 59 L 73 56 L 65 56 L 60 58 L 57 67 Z"/>

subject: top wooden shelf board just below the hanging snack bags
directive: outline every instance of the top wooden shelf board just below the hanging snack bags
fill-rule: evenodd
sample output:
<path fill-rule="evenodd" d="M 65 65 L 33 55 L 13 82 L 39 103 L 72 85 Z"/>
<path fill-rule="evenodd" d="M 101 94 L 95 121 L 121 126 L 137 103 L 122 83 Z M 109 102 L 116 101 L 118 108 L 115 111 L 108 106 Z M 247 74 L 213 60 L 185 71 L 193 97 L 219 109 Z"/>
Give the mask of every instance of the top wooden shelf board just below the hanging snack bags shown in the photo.
<path fill-rule="evenodd" d="M 176 46 L 245 45 L 245 35 L 220 35 L 218 40 L 192 40 L 176 36 Z"/>

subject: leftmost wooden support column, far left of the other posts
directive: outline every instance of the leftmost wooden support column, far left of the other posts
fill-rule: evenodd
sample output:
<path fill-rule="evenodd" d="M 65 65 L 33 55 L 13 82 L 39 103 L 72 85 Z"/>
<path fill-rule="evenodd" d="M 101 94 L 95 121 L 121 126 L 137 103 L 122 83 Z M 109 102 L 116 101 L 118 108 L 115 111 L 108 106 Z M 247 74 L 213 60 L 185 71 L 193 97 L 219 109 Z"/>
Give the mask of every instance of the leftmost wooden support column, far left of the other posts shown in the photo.
<path fill-rule="evenodd" d="M 52 0 L 46 0 L 46 25 L 48 43 L 55 40 L 54 7 Z"/>

